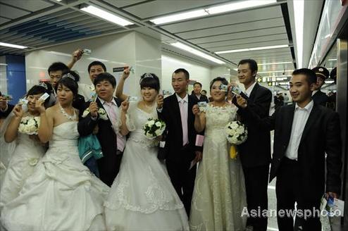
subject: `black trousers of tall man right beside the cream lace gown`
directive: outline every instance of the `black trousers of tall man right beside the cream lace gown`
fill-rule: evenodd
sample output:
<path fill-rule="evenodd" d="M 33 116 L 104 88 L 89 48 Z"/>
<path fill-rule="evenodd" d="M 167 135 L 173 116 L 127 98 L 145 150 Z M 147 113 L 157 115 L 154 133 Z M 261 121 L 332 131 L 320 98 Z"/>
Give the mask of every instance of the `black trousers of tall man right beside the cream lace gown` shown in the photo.
<path fill-rule="evenodd" d="M 247 205 L 249 214 L 251 210 L 262 211 L 268 209 L 268 173 L 269 165 L 243 168 L 245 189 L 247 191 Z M 249 217 L 247 225 L 254 227 L 254 231 L 267 230 L 267 217 Z"/>

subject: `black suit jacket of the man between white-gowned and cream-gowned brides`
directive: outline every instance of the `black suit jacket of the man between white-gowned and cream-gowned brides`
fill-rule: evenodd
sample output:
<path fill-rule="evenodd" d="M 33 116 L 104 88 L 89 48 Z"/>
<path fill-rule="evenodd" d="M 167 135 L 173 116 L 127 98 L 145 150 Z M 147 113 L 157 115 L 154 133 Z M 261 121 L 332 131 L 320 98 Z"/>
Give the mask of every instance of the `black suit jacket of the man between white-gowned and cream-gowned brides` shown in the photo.
<path fill-rule="evenodd" d="M 192 106 L 197 104 L 197 97 L 188 96 L 187 111 L 187 131 L 189 144 L 189 156 L 180 156 L 182 149 L 182 123 L 180 116 L 179 102 L 176 94 L 166 97 L 163 102 L 163 109 L 159 113 L 159 118 L 166 122 L 166 159 L 169 161 L 180 162 L 183 158 L 189 163 L 195 157 L 194 151 L 201 151 L 201 147 L 195 146 L 197 132 L 194 130 L 194 114 Z"/>

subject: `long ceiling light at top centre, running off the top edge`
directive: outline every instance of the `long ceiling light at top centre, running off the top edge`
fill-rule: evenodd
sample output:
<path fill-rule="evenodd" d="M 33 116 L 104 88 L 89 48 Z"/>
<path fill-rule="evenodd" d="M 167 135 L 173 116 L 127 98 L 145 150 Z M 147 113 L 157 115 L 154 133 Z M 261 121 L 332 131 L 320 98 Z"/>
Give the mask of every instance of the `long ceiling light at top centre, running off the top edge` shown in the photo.
<path fill-rule="evenodd" d="M 213 15 L 217 13 L 225 13 L 231 11 L 238 11 L 244 8 L 253 8 L 256 6 L 266 6 L 268 4 L 276 3 L 276 0 L 249 0 L 239 1 L 232 4 L 225 4 L 220 6 L 212 6 L 210 8 L 203 8 L 195 11 L 187 11 L 185 13 L 176 13 L 173 15 L 163 16 L 159 18 L 151 19 L 150 21 L 156 25 L 163 23 L 171 23 L 189 18 L 198 18 L 207 15 Z"/>

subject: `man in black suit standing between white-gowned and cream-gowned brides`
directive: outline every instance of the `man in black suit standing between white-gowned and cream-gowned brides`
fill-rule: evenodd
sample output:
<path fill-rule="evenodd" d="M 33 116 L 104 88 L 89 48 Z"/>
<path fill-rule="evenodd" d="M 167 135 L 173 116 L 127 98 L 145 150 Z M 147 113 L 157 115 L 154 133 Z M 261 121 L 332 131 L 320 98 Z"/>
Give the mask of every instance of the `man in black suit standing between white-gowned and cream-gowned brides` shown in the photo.
<path fill-rule="evenodd" d="M 192 106 L 197 99 L 187 94 L 189 73 L 178 69 L 172 75 L 175 94 L 159 99 L 159 118 L 166 122 L 166 166 L 170 180 L 185 206 L 187 215 L 191 208 L 197 166 L 190 168 L 192 161 L 199 161 L 201 148 L 195 146 L 197 132 L 194 130 Z M 197 163 L 197 162 L 196 162 Z"/>

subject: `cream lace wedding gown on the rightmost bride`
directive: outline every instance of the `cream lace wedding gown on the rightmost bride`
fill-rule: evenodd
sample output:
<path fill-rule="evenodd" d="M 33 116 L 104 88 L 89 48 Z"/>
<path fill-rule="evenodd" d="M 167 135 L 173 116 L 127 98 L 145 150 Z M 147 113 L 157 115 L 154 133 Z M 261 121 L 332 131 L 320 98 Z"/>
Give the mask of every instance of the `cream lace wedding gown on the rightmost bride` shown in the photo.
<path fill-rule="evenodd" d="M 225 125 L 235 120 L 232 106 L 206 107 L 203 159 L 194 182 L 190 230 L 244 230 L 241 217 L 247 206 L 244 174 L 239 156 L 230 158 Z"/>

